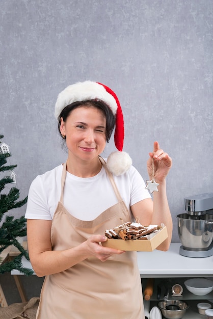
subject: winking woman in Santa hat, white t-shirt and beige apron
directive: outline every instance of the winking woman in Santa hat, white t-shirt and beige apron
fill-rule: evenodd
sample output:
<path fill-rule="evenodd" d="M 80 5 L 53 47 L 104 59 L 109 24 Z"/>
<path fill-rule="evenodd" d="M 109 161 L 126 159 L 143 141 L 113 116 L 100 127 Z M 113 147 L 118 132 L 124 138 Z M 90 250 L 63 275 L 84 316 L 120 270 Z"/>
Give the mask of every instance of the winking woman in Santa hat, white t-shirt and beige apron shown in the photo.
<path fill-rule="evenodd" d="M 25 218 L 28 247 L 37 276 L 46 276 L 37 319 L 144 319 L 137 253 L 102 247 L 106 229 L 139 217 L 143 225 L 172 219 L 166 176 L 172 159 L 154 142 L 147 168 L 158 192 L 153 201 L 131 159 L 122 151 L 123 115 L 116 94 L 86 81 L 68 86 L 55 115 L 66 140 L 64 165 L 32 182 Z M 115 126 L 115 146 L 107 164 L 100 157 Z M 154 160 L 153 160 L 154 158 Z"/>

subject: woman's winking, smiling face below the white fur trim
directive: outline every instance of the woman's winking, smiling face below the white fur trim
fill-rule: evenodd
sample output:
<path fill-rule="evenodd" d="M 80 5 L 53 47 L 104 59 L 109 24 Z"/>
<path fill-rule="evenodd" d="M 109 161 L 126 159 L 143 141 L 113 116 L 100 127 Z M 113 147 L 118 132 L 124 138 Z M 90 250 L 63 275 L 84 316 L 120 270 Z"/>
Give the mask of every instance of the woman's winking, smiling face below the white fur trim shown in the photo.
<path fill-rule="evenodd" d="M 69 154 L 83 160 L 100 155 L 106 144 L 105 126 L 105 117 L 94 107 L 82 106 L 71 111 L 66 122 L 61 119 L 60 126 Z"/>

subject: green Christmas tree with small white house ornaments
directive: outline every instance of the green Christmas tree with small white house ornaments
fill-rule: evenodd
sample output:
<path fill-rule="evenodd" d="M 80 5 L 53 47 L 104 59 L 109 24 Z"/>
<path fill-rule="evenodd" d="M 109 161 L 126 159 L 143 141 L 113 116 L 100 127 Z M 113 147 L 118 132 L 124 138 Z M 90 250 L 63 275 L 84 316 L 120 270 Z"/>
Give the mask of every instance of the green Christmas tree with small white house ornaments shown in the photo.
<path fill-rule="evenodd" d="M 7 187 L 7 191 L 2 193 L 6 185 L 14 183 L 11 172 L 17 167 L 17 165 L 5 165 L 11 153 L 7 149 L 7 144 L 1 142 L 3 138 L 4 136 L 0 135 L 0 176 L 4 175 L 0 178 L 0 254 L 10 245 L 14 245 L 20 254 L 12 260 L 2 263 L 0 265 L 0 274 L 16 269 L 24 275 L 32 275 L 33 271 L 31 269 L 22 267 L 22 256 L 29 260 L 29 255 L 17 240 L 17 237 L 26 236 L 26 221 L 23 216 L 14 218 L 14 216 L 6 215 L 9 210 L 23 206 L 27 201 L 27 197 L 23 200 L 18 200 L 20 193 L 16 187 Z M 10 176 L 6 176 L 7 172 L 10 172 Z"/>

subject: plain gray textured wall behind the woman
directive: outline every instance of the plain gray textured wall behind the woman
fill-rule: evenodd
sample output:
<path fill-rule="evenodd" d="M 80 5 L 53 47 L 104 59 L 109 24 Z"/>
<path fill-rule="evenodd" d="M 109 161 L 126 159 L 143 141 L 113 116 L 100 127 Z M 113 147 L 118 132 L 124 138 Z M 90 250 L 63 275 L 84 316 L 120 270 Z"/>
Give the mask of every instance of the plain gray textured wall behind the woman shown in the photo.
<path fill-rule="evenodd" d="M 21 198 L 66 158 L 58 93 L 102 82 L 120 99 L 124 150 L 144 179 L 153 141 L 173 158 L 167 186 L 179 242 L 184 197 L 213 192 L 213 1 L 1 0 L 0 16 L 0 134 L 18 165 Z"/>

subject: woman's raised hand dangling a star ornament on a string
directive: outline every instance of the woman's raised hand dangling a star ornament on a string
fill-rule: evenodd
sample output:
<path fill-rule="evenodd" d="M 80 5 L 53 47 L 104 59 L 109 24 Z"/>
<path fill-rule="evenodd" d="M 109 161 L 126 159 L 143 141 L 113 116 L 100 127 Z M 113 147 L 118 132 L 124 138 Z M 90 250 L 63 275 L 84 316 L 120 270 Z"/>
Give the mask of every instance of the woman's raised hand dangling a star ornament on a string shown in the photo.
<path fill-rule="evenodd" d="M 172 158 L 159 147 L 158 142 L 154 142 L 153 152 L 149 153 L 149 156 L 150 157 L 147 161 L 147 171 L 150 180 L 154 178 L 157 183 L 162 182 L 172 167 Z M 154 158 L 154 176 L 152 175 L 152 158 Z"/>

